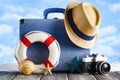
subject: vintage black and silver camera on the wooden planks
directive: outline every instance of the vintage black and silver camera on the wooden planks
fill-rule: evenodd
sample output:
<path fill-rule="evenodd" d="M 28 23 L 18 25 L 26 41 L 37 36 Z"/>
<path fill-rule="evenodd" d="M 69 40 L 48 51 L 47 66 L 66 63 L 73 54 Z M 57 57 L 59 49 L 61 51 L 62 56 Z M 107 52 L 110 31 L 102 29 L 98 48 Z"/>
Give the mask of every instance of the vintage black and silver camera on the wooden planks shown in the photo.
<path fill-rule="evenodd" d="M 110 71 L 110 64 L 104 55 L 92 54 L 82 58 L 83 73 L 107 74 Z"/>

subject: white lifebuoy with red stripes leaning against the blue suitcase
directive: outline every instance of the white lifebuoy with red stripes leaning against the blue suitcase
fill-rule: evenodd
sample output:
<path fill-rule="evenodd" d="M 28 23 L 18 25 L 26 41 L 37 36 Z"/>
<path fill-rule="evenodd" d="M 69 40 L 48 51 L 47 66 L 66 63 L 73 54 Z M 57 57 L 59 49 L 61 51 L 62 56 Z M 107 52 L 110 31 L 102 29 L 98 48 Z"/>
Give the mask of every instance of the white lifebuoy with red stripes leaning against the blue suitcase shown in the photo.
<path fill-rule="evenodd" d="M 42 31 L 31 31 L 20 39 L 20 42 L 15 49 L 15 57 L 18 61 L 18 64 L 28 59 L 26 55 L 27 48 L 34 42 L 42 42 L 49 49 L 48 60 L 42 64 L 36 65 L 36 70 L 34 73 L 42 73 L 42 68 L 45 68 L 47 64 L 49 64 L 50 67 L 55 68 L 60 57 L 59 43 L 52 35 Z"/>

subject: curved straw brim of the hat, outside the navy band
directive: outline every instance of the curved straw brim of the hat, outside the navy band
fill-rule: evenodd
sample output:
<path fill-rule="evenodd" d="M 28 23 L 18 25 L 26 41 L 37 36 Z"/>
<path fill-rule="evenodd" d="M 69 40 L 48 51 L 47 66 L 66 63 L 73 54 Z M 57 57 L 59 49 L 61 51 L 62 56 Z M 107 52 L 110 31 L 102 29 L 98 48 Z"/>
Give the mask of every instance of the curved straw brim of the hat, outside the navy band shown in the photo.
<path fill-rule="evenodd" d="M 73 7 L 75 7 L 79 4 L 80 4 L 80 2 L 70 2 L 67 5 L 66 10 L 65 10 L 65 18 L 64 18 L 65 29 L 66 29 L 69 39 L 75 45 L 77 45 L 78 47 L 81 47 L 81 48 L 90 49 L 95 45 L 98 35 L 96 34 L 92 40 L 84 40 L 75 34 L 75 32 L 72 30 L 72 28 L 69 24 L 69 21 L 68 21 L 68 16 L 67 16 L 68 10 L 72 9 Z"/>

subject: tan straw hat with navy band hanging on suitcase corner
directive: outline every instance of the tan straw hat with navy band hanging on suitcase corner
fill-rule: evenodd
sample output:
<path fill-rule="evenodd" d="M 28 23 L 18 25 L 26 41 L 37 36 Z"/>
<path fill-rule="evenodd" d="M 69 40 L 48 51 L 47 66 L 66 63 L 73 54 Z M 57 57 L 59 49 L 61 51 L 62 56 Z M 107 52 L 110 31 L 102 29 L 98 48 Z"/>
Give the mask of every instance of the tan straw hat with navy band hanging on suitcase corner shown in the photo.
<path fill-rule="evenodd" d="M 100 13 L 87 2 L 70 2 L 65 10 L 65 28 L 70 40 L 82 48 L 92 48 L 97 41 Z"/>

